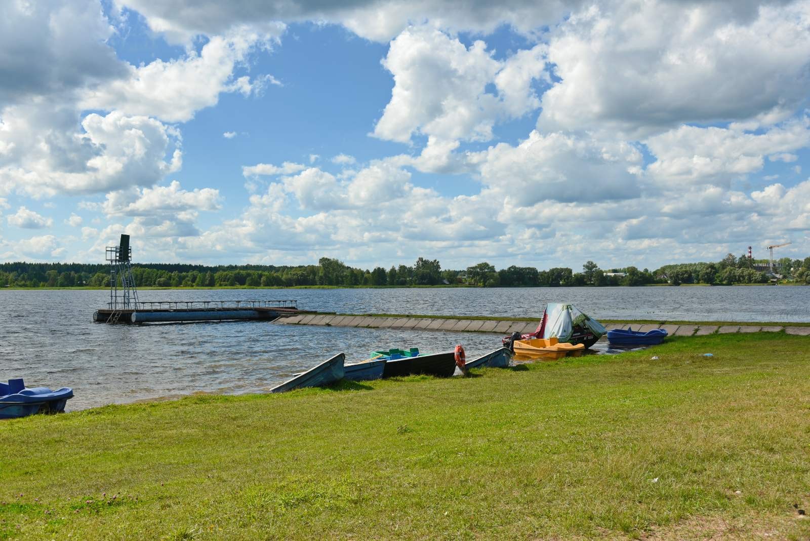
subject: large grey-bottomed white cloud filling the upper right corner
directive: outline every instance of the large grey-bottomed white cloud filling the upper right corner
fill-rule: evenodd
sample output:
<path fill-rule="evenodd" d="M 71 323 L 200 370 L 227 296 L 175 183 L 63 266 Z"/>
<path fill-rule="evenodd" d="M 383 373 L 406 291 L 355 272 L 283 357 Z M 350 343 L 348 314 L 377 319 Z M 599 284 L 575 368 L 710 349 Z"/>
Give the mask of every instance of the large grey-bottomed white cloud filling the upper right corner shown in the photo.
<path fill-rule="evenodd" d="M 551 32 L 544 130 L 784 120 L 810 83 L 810 3 L 597 2 Z"/>

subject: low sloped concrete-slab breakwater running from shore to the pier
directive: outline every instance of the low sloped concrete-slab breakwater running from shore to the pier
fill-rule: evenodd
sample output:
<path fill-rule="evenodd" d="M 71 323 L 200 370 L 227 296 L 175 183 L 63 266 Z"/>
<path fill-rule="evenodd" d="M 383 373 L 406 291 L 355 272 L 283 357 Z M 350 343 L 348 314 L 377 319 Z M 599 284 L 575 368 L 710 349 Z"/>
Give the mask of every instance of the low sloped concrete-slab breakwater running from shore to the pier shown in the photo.
<path fill-rule="evenodd" d="M 447 330 L 453 332 L 476 332 L 493 334 L 511 334 L 514 332 L 531 333 L 537 329 L 538 321 L 505 321 L 487 319 L 446 319 L 437 317 L 384 317 L 384 316 L 338 316 L 338 315 L 297 315 L 279 317 L 275 323 L 281 325 L 318 325 L 340 327 L 363 327 L 369 329 L 402 329 L 402 330 Z M 797 326 L 761 326 L 761 325 L 675 325 L 608 323 L 608 330 L 666 330 L 670 336 L 701 336 L 704 334 L 779 332 L 810 336 L 810 327 Z"/>

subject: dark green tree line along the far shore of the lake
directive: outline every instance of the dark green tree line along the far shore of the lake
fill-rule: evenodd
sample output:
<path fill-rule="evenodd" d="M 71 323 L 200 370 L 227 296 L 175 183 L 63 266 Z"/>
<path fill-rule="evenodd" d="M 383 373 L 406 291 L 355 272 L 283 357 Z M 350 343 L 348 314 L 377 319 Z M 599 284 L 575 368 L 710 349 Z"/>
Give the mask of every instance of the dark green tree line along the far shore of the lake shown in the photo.
<path fill-rule="evenodd" d="M 658 270 L 635 266 L 603 270 L 595 262 L 582 272 L 569 267 L 538 270 L 533 266 L 509 266 L 497 270 L 488 262 L 464 270 L 441 270 L 437 259 L 418 258 L 413 266 L 377 266 L 363 270 L 335 258 L 321 258 L 318 265 L 183 265 L 147 263 L 134 265 L 132 273 L 139 287 L 215 288 L 294 286 L 390 286 L 413 287 L 459 285 L 473 287 L 578 287 L 641 286 L 654 283 L 766 283 L 769 276 L 755 268 L 757 261 L 729 253 L 713 263 L 665 265 Z M 810 283 L 810 258 L 782 258 L 778 269 L 788 279 Z M 0 288 L 109 287 L 109 266 L 83 263 L 0 263 Z"/>

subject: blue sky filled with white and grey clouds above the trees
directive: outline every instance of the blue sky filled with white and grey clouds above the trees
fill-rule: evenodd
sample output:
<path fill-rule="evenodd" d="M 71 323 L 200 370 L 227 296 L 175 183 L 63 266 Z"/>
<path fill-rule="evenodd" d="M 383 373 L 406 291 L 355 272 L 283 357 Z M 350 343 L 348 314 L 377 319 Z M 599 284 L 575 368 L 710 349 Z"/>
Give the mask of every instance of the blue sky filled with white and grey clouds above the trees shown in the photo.
<path fill-rule="evenodd" d="M 0 261 L 810 254 L 810 2 L 5 2 Z"/>

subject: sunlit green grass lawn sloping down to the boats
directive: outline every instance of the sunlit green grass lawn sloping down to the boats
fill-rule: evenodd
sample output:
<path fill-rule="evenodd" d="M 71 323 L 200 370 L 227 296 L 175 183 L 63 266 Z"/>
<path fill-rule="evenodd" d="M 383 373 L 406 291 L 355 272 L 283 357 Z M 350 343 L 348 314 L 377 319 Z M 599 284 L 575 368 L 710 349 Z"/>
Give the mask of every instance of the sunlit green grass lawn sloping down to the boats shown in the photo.
<path fill-rule="evenodd" d="M 807 539 L 808 361 L 709 335 L 4 421 L 0 539 Z"/>

